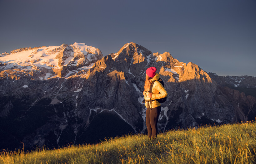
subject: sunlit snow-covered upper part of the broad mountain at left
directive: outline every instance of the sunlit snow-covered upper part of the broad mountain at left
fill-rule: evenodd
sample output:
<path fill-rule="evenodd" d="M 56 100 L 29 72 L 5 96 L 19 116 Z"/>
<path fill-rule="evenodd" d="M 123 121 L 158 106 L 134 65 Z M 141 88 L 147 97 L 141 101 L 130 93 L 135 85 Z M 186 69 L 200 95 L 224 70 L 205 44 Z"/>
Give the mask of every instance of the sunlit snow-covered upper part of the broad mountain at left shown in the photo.
<path fill-rule="evenodd" d="M 102 57 L 99 49 L 84 43 L 62 44 L 21 48 L 11 51 L 10 54 L 0 54 L 0 66 L 5 70 L 4 77 L 12 74 L 11 78 L 15 80 L 20 79 L 21 76 L 40 79 L 68 78 L 80 71 L 83 72 L 80 74 L 82 76 L 85 70 L 91 68 Z"/>

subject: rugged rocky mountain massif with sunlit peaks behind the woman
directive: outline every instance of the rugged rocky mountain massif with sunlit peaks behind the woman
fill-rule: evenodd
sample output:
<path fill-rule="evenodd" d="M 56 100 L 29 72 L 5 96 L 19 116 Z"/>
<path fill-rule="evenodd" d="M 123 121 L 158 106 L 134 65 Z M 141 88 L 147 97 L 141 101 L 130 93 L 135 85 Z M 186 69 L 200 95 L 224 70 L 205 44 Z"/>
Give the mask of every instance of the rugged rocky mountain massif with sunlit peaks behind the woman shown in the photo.
<path fill-rule="evenodd" d="M 99 142 L 146 133 L 145 71 L 165 83 L 159 131 L 255 117 L 253 96 L 219 85 L 198 65 L 136 43 L 103 57 L 84 43 L 0 54 L 0 148 Z"/>

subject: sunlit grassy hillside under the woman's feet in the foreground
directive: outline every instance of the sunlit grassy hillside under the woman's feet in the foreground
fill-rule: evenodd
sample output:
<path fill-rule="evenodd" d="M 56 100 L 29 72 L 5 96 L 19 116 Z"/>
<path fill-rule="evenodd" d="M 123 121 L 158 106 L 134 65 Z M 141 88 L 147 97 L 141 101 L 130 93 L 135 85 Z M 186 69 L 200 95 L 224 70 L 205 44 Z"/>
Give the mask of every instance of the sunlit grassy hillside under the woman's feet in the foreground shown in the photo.
<path fill-rule="evenodd" d="M 116 137 L 100 144 L 5 152 L 0 163 L 256 163 L 256 123 Z"/>

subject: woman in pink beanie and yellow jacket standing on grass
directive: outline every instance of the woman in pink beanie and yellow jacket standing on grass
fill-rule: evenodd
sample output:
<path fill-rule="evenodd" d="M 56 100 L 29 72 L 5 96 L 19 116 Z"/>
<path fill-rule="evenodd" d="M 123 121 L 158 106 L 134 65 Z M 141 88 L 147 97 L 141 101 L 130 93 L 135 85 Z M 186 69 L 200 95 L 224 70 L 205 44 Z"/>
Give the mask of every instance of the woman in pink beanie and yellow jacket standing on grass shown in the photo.
<path fill-rule="evenodd" d="M 156 99 L 162 99 L 167 96 L 167 91 L 163 88 L 163 85 L 158 81 L 159 74 L 156 73 L 155 67 L 149 67 L 146 70 L 146 80 L 144 85 L 144 99 L 147 107 L 146 111 L 146 125 L 148 128 L 148 138 L 156 138 L 158 129 L 157 122 L 158 116 L 161 112 L 161 104 Z M 152 93 L 149 93 L 150 84 L 153 83 Z"/>

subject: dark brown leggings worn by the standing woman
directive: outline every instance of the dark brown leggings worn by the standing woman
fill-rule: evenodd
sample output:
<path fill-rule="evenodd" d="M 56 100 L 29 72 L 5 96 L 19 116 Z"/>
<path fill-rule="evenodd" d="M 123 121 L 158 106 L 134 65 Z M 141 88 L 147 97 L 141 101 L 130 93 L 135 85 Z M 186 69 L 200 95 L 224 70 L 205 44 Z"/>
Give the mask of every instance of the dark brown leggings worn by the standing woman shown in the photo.
<path fill-rule="evenodd" d="M 147 108 L 146 111 L 146 125 L 148 128 L 148 138 L 157 137 L 157 122 L 158 116 L 161 112 L 161 106 L 156 108 Z"/>

